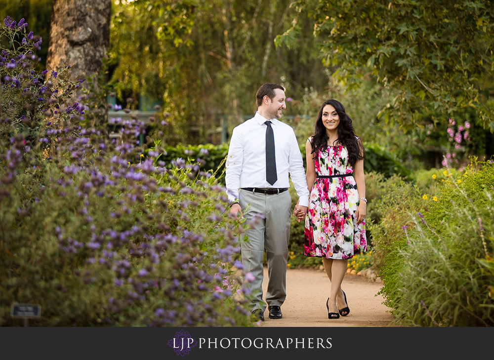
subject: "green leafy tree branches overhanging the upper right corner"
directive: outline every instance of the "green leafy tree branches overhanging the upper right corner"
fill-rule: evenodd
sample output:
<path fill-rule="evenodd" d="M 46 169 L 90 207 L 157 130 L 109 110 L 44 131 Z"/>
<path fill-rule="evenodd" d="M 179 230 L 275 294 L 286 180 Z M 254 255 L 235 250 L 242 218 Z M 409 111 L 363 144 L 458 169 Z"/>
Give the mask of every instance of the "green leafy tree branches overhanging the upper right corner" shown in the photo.
<path fill-rule="evenodd" d="M 365 68 L 398 91 L 381 113 L 385 119 L 393 114 L 409 129 L 428 109 L 447 116 L 475 107 L 494 129 L 490 1 L 299 0 L 296 6 L 314 20 L 325 62 L 338 67 L 339 80 L 359 85 Z M 290 32 L 296 21 L 285 36 Z"/>

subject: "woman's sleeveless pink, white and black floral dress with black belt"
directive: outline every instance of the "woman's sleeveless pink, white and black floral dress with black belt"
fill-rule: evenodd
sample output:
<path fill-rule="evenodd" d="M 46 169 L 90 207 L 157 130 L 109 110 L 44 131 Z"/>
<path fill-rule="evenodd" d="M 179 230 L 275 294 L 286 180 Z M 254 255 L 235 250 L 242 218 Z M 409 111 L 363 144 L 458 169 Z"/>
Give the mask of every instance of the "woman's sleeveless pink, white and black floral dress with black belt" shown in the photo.
<path fill-rule="evenodd" d="M 353 174 L 345 146 L 328 146 L 314 159 L 316 175 Z M 316 178 L 305 217 L 304 254 L 350 259 L 367 251 L 365 220 L 357 225 L 359 193 L 353 175 Z"/>

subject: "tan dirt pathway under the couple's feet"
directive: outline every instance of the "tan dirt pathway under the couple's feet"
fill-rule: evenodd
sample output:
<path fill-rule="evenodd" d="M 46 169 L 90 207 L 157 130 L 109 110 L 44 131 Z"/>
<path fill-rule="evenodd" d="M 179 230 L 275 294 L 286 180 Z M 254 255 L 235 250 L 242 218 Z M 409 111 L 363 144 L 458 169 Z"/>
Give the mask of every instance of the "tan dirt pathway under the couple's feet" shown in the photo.
<path fill-rule="evenodd" d="M 264 268 L 263 292 L 266 294 L 267 269 Z M 359 275 L 346 274 L 341 285 L 345 290 L 350 314 L 339 319 L 328 319 L 326 300 L 330 282 L 324 270 L 288 269 L 287 300 L 282 306 L 283 319 L 271 320 L 264 313 L 262 327 L 277 326 L 389 326 L 393 316 L 382 304 L 383 298 L 376 294 L 382 282 L 374 282 Z"/>

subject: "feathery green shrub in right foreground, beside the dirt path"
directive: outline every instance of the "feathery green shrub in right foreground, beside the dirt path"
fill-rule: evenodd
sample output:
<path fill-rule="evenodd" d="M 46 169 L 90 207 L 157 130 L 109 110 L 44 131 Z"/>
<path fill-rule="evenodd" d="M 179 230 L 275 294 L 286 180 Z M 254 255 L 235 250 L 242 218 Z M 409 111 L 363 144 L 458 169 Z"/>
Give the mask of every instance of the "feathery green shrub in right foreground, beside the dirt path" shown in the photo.
<path fill-rule="evenodd" d="M 494 172 L 492 164 L 475 165 L 461 176 L 447 172 L 439 201 L 393 250 L 400 265 L 386 294 L 399 323 L 494 325 Z"/>

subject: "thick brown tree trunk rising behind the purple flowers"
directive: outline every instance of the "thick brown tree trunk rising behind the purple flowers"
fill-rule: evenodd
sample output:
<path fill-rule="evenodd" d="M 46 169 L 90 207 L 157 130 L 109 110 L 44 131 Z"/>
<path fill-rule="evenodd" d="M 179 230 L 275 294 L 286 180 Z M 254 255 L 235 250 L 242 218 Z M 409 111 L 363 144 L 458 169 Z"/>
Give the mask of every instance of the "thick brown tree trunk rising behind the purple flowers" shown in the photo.
<path fill-rule="evenodd" d="M 99 73 L 110 43 L 111 6 L 111 0 L 54 0 L 46 68 L 66 60 L 74 80 Z"/>

